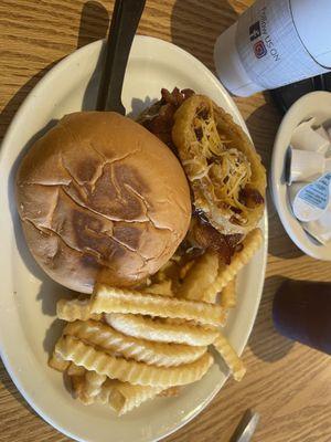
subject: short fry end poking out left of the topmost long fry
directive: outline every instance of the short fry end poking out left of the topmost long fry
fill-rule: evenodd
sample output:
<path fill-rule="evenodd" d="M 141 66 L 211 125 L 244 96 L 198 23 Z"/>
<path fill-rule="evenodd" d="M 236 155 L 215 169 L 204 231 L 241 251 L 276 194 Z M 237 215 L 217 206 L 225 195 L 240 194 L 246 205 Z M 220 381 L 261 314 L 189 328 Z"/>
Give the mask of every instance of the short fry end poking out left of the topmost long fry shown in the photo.
<path fill-rule="evenodd" d="M 67 322 L 73 320 L 87 320 L 95 319 L 100 320 L 102 315 L 90 312 L 90 299 L 58 299 L 56 304 L 56 316 L 58 319 Z"/>

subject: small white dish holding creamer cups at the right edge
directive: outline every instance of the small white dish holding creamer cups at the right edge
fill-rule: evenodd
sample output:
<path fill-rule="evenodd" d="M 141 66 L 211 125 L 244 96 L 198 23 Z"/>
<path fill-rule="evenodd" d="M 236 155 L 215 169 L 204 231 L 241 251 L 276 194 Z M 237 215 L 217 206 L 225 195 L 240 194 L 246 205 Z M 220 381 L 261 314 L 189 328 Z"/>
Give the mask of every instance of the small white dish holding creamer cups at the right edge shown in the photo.
<path fill-rule="evenodd" d="M 322 245 L 317 242 L 306 233 L 301 223 L 293 215 L 284 175 L 287 149 L 292 133 L 301 122 L 311 117 L 316 118 L 317 125 L 329 122 L 329 126 L 331 126 L 330 92 L 312 92 L 303 95 L 285 115 L 274 144 L 270 187 L 280 221 L 293 243 L 309 256 L 331 261 L 331 243 Z"/>

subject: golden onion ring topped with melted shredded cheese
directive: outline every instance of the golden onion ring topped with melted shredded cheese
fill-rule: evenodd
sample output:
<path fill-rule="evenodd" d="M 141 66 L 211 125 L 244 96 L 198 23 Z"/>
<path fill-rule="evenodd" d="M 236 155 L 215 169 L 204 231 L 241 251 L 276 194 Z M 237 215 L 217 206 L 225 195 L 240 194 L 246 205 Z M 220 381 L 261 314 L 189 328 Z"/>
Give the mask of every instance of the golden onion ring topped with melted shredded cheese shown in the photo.
<path fill-rule="evenodd" d="M 172 139 L 194 207 L 223 234 L 247 234 L 265 209 L 266 171 L 244 130 L 203 95 L 174 114 Z"/>

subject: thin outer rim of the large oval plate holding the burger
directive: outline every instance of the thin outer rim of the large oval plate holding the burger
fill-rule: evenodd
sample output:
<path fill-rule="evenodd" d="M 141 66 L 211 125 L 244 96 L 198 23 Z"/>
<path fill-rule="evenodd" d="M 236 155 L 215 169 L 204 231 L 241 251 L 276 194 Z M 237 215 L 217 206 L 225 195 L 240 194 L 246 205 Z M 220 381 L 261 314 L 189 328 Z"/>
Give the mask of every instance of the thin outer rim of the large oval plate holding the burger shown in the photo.
<path fill-rule="evenodd" d="M 238 110 L 236 104 L 234 103 L 233 98 L 229 96 L 229 94 L 227 93 L 227 91 L 224 88 L 224 86 L 218 82 L 218 80 L 214 76 L 214 74 L 200 61 L 197 60 L 194 55 L 192 55 L 191 53 L 186 52 L 185 50 L 183 50 L 182 48 L 158 39 L 158 38 L 153 38 L 153 36 L 149 36 L 149 35 L 139 35 L 137 34 L 135 36 L 135 40 L 142 40 L 145 42 L 149 42 L 151 44 L 161 44 L 167 46 L 168 49 L 178 52 L 182 55 L 184 55 L 185 57 L 191 59 L 191 61 L 195 64 L 199 65 L 201 69 L 204 70 L 204 72 L 206 73 L 206 75 L 210 77 L 210 80 L 216 85 L 216 87 L 220 90 L 220 94 L 222 93 L 222 96 L 224 99 L 227 101 L 227 104 L 229 105 L 229 107 L 232 108 L 231 114 L 233 116 L 236 116 L 241 127 L 248 134 L 249 138 L 252 139 L 248 128 L 246 126 L 246 123 L 241 114 L 241 112 Z M 13 119 L 11 120 L 6 135 L 3 137 L 2 144 L 1 144 L 1 149 L 0 149 L 0 164 L 2 161 L 2 157 L 7 154 L 8 148 L 7 145 L 10 146 L 11 144 L 11 137 L 12 134 L 15 133 L 17 130 L 17 123 L 20 120 L 21 115 L 25 113 L 25 108 L 30 106 L 30 102 L 33 101 L 33 95 L 36 94 L 43 86 L 44 84 L 49 81 L 49 78 L 51 76 L 57 75 L 57 73 L 62 70 L 63 66 L 65 66 L 68 62 L 72 62 L 75 57 L 81 56 L 82 54 L 84 54 L 84 52 L 88 53 L 88 51 L 90 51 L 90 48 L 93 45 L 95 45 L 96 48 L 98 45 L 103 44 L 103 40 L 98 40 L 95 41 L 93 43 L 89 43 L 85 46 L 79 48 L 78 50 L 72 52 L 71 54 L 64 56 L 61 61 L 58 61 L 39 82 L 38 84 L 30 91 L 30 93 L 28 94 L 28 96 L 24 98 L 23 103 L 20 105 L 19 109 L 17 110 Z M 261 298 L 261 294 L 263 294 L 263 287 L 264 287 L 264 282 L 265 282 L 265 272 L 266 272 L 266 265 L 267 265 L 267 249 L 268 249 L 268 218 L 267 218 L 267 208 L 265 209 L 265 213 L 264 213 L 264 218 L 261 220 L 261 227 L 263 227 L 263 231 L 264 231 L 264 248 L 261 250 L 261 260 L 263 260 L 263 266 L 261 266 L 261 272 L 260 272 L 260 277 L 259 277 L 259 282 L 258 282 L 258 291 L 257 291 L 257 296 L 256 296 L 256 301 L 255 301 L 255 308 L 254 308 L 254 315 L 252 315 L 252 319 L 250 319 L 250 325 L 247 329 L 246 336 L 244 336 L 244 339 L 242 339 L 242 346 L 239 348 L 239 354 L 243 352 L 244 348 L 247 345 L 248 338 L 252 334 L 252 329 L 254 327 L 255 320 L 256 320 L 256 315 L 257 315 L 257 311 L 259 308 L 259 304 L 260 304 L 260 298 Z M 20 379 L 15 376 L 15 373 L 13 372 L 14 370 L 11 369 L 11 365 L 9 362 L 9 358 L 7 358 L 7 351 L 6 349 L 3 349 L 3 343 L 0 336 L 0 357 L 3 361 L 3 365 L 11 378 L 11 380 L 13 381 L 13 383 L 15 385 L 15 387 L 18 388 L 20 394 L 24 398 L 24 400 L 29 403 L 29 406 L 35 410 L 35 412 L 49 424 L 51 424 L 53 428 L 55 428 L 57 431 L 60 431 L 61 433 L 72 438 L 73 440 L 77 440 L 77 441 L 85 441 L 84 439 L 81 439 L 81 436 L 77 436 L 76 434 L 73 434 L 71 431 L 67 430 L 67 428 L 63 428 L 60 424 L 57 424 L 57 422 L 54 422 L 52 417 L 47 413 L 44 413 L 42 408 L 40 408 L 33 400 L 33 398 L 31 398 L 31 396 L 29 393 L 25 392 L 24 387 L 21 385 Z M 226 377 L 227 378 L 227 377 Z M 184 420 L 182 420 L 181 422 L 179 422 L 173 429 L 169 430 L 168 432 L 163 433 L 161 436 L 157 436 L 157 439 L 154 439 L 154 436 L 152 436 L 153 439 L 150 439 L 150 441 L 159 441 L 163 438 L 167 438 L 168 435 L 174 433 L 175 431 L 178 431 L 180 428 L 182 428 L 183 425 L 185 425 L 186 423 L 189 423 L 192 419 L 194 419 L 197 414 L 200 414 L 200 412 L 213 400 L 213 398 L 220 392 L 220 390 L 222 389 L 222 386 L 220 388 L 216 388 L 215 391 L 213 392 L 213 394 L 211 394 L 210 397 L 205 398 L 204 402 L 202 402 L 201 407 L 199 407 L 197 410 L 195 410 L 195 412 L 191 413 L 189 417 L 186 417 Z"/>

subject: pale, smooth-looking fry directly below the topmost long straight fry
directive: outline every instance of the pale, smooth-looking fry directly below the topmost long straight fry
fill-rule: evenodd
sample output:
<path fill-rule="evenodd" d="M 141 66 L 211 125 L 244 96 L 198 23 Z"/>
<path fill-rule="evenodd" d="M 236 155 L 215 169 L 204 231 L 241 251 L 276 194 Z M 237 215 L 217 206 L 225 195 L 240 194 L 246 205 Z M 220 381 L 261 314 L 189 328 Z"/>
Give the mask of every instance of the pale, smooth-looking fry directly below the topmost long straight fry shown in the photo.
<path fill-rule="evenodd" d="M 116 330 L 136 338 L 157 343 L 207 346 L 217 337 L 217 329 L 200 325 L 177 323 L 174 319 L 151 319 L 141 315 L 111 313 L 106 322 Z"/>

